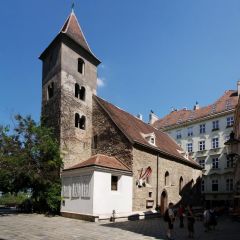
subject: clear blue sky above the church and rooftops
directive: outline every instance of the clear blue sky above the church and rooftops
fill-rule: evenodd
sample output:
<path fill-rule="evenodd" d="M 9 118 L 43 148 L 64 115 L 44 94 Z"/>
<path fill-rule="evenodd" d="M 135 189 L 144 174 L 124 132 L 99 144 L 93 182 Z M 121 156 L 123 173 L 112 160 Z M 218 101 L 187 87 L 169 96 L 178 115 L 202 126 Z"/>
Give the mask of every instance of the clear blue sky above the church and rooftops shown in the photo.
<path fill-rule="evenodd" d="M 16 113 L 39 120 L 41 61 L 71 0 L 1 0 L 0 124 Z M 101 59 L 98 95 L 148 120 L 152 109 L 192 108 L 236 89 L 238 0 L 75 0 L 87 41 Z"/>

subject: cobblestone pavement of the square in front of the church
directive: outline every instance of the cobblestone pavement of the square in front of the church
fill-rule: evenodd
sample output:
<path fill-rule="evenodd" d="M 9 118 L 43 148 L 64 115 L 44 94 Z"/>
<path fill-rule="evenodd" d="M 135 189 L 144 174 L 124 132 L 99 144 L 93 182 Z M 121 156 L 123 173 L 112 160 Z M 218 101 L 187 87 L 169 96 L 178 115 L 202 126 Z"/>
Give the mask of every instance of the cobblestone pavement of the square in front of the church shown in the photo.
<path fill-rule="evenodd" d="M 39 214 L 0 215 L 0 240 L 128 240 L 166 239 L 166 223 L 162 219 L 148 219 L 116 223 L 90 223 L 63 217 Z M 188 239 L 186 229 L 175 223 L 175 239 Z M 202 222 L 195 224 L 195 239 L 239 240 L 240 223 L 219 219 L 215 231 L 205 233 Z"/>

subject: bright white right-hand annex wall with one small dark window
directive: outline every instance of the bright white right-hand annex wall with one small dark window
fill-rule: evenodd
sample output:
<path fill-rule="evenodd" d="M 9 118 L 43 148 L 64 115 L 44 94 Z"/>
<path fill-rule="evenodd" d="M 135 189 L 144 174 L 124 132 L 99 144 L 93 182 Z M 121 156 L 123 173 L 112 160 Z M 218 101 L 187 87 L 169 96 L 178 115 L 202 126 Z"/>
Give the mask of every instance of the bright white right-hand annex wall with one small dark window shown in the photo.
<path fill-rule="evenodd" d="M 109 215 L 113 210 L 117 214 L 132 212 L 132 176 L 118 175 L 118 190 L 111 191 L 111 175 L 94 172 L 93 214 Z"/>

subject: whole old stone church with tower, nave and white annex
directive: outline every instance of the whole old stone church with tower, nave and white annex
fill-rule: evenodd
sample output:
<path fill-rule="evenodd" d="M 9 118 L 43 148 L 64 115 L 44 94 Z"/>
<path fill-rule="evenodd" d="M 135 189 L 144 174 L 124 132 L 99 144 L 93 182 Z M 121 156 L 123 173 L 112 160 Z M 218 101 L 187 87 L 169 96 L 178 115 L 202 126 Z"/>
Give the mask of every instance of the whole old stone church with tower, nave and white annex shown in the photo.
<path fill-rule="evenodd" d="M 97 96 L 101 62 L 74 11 L 40 59 L 42 119 L 64 162 L 63 216 L 97 221 L 198 204 L 201 166 L 166 133 Z"/>

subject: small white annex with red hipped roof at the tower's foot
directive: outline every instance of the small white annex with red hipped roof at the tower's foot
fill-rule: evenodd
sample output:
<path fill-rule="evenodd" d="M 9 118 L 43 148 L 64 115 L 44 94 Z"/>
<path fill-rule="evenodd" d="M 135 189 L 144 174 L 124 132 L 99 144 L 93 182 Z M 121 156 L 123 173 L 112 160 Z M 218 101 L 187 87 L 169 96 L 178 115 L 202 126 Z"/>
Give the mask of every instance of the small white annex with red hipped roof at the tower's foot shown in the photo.
<path fill-rule="evenodd" d="M 120 162 L 118 169 L 109 166 L 109 160 L 118 161 L 96 155 L 62 172 L 63 216 L 97 221 L 132 212 L 132 172 Z"/>

